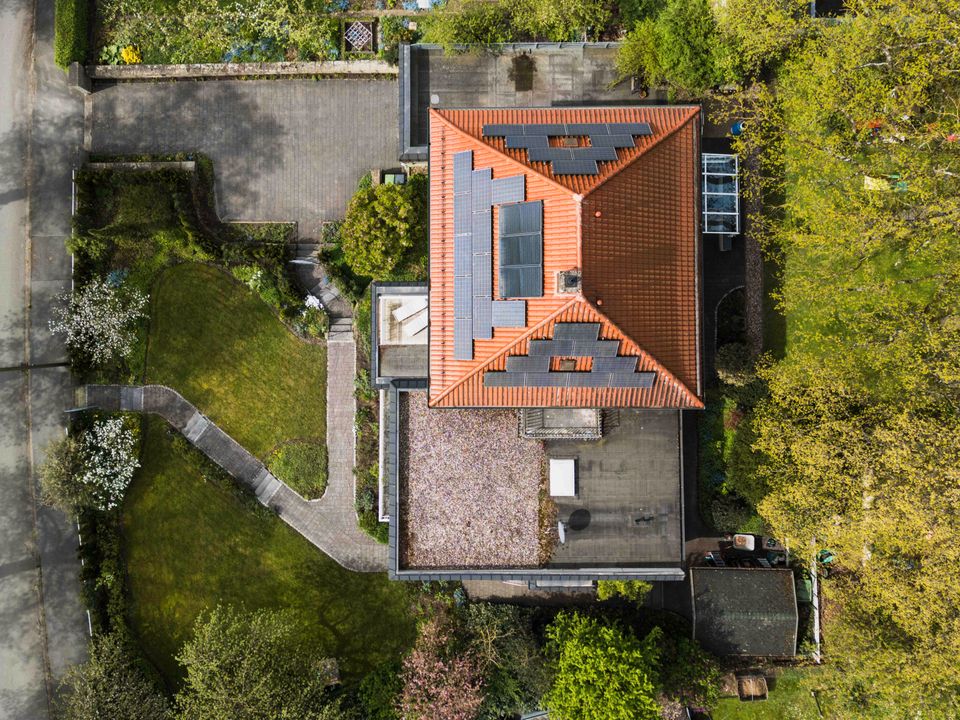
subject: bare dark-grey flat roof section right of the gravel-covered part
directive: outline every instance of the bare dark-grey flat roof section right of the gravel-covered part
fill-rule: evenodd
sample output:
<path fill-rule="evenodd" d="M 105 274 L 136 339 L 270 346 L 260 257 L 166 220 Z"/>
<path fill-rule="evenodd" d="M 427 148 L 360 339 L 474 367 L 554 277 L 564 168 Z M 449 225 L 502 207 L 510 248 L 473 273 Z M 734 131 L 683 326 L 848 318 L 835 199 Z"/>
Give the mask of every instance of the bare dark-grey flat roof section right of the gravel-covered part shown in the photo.
<path fill-rule="evenodd" d="M 576 496 L 552 498 L 564 542 L 549 567 L 680 565 L 680 411 L 605 410 L 600 440 L 545 445 L 577 461 Z"/>

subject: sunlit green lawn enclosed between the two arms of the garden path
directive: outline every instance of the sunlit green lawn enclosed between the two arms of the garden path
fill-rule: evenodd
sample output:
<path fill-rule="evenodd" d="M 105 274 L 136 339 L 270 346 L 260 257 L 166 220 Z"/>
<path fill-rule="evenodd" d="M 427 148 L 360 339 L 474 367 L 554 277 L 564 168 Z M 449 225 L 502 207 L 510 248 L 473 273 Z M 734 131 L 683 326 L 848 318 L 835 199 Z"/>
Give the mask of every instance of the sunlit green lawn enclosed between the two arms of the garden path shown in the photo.
<path fill-rule="evenodd" d="M 292 439 L 326 443 L 327 353 L 288 331 L 230 275 L 183 264 L 153 292 L 147 382 L 183 394 L 262 460 Z"/>

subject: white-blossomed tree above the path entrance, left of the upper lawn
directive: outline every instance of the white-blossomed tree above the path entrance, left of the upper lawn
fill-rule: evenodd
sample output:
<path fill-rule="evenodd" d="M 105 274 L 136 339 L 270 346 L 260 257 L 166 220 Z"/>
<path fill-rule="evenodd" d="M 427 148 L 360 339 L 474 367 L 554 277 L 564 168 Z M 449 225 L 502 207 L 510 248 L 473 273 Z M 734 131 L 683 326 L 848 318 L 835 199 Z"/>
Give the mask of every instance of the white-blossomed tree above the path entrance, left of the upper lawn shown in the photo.
<path fill-rule="evenodd" d="M 134 324 L 145 317 L 147 296 L 95 278 L 54 310 L 50 330 L 66 335 L 67 346 L 100 365 L 126 357 L 133 348 Z"/>

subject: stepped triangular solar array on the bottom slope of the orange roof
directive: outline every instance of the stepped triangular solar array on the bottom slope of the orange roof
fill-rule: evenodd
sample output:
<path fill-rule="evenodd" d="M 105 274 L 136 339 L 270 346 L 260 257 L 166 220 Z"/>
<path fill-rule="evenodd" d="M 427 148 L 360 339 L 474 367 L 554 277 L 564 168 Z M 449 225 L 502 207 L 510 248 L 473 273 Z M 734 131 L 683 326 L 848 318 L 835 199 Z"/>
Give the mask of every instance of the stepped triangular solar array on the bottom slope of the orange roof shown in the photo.
<path fill-rule="evenodd" d="M 531 340 L 527 355 L 511 355 L 503 371 L 486 372 L 484 387 L 652 388 L 655 372 L 637 372 L 637 358 L 617 355 L 618 340 L 600 340 L 600 323 L 557 323 L 553 339 Z M 590 357 L 590 372 L 558 372 L 559 357 Z"/>

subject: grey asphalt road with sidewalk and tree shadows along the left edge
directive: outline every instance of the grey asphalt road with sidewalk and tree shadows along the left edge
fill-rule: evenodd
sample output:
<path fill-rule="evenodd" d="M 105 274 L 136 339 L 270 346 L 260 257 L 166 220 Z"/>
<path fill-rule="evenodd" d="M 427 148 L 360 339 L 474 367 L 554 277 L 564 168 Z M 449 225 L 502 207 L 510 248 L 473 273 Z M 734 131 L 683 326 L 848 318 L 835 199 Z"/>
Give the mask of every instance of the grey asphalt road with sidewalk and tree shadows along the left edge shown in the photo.
<path fill-rule="evenodd" d="M 76 527 L 36 503 L 34 469 L 72 403 L 47 331 L 70 286 L 70 170 L 83 101 L 53 64 L 53 2 L 0 0 L 0 720 L 44 720 L 82 661 Z"/>

